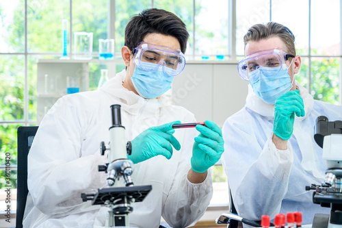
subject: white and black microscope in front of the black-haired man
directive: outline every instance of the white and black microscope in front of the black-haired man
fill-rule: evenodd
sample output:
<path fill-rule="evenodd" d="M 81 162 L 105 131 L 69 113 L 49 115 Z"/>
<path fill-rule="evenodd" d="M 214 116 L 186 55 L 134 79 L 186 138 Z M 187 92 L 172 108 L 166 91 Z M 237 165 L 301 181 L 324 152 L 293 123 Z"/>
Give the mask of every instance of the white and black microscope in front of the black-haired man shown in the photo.
<path fill-rule="evenodd" d="M 91 200 L 92 205 L 108 207 L 105 227 L 129 227 L 128 214 L 133 212 L 131 203 L 145 199 L 152 186 L 134 186 L 131 175 L 133 162 L 127 159 L 131 154 L 131 142 L 125 143 L 124 127 L 121 125 L 120 105 L 111 105 L 112 126 L 109 127 L 109 144 L 100 144 L 101 155 L 108 151 L 108 164 L 98 166 L 99 172 L 107 173 L 104 188 L 98 189 L 96 194 L 82 193 L 84 202 Z M 125 187 L 118 187 L 122 179 Z"/>

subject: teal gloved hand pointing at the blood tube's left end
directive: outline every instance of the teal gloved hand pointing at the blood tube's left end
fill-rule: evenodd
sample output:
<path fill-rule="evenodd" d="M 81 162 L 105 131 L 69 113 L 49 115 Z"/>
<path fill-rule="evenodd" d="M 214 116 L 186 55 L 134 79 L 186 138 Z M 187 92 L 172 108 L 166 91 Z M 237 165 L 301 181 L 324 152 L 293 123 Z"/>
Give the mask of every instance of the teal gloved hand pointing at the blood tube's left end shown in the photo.
<path fill-rule="evenodd" d="M 174 129 L 172 125 L 181 123 L 181 121 L 174 121 L 166 123 L 165 125 L 150 127 L 132 141 L 132 153 L 127 157 L 132 160 L 134 164 L 148 160 L 157 155 L 163 155 L 167 159 L 172 156 L 172 146 L 179 151 L 181 144 L 172 136 Z"/>

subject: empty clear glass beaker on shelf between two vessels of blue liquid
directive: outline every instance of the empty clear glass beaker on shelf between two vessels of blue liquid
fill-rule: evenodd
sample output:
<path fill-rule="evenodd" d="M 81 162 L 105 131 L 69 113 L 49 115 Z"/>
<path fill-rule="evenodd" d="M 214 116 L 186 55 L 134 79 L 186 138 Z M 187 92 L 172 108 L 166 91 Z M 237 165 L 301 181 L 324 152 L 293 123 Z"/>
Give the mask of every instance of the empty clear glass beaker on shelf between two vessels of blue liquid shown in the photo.
<path fill-rule="evenodd" d="M 76 60 L 92 59 L 92 32 L 74 32 L 74 58 Z"/>

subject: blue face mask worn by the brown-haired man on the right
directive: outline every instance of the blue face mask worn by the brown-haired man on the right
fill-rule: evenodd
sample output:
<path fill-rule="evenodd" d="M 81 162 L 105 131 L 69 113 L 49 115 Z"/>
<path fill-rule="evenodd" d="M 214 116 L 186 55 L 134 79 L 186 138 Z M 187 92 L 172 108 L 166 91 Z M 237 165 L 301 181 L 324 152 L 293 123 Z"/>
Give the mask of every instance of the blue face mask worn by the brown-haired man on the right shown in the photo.
<path fill-rule="evenodd" d="M 281 68 L 278 71 L 279 68 L 260 66 L 258 71 L 254 71 L 255 73 L 252 72 L 250 75 L 252 78 L 257 79 L 255 81 L 251 80 L 250 85 L 255 94 L 265 103 L 275 103 L 278 97 L 292 88 L 288 68 Z"/>

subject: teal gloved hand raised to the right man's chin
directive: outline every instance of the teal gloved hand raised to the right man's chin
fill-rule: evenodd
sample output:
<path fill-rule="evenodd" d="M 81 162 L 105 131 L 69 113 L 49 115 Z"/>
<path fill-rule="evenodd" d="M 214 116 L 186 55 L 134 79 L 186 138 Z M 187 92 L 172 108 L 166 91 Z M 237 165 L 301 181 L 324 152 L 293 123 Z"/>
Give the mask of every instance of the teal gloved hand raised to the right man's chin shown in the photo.
<path fill-rule="evenodd" d="M 283 140 L 289 140 L 293 132 L 295 115 L 305 116 L 300 90 L 291 90 L 276 99 L 274 105 L 274 134 Z"/>

